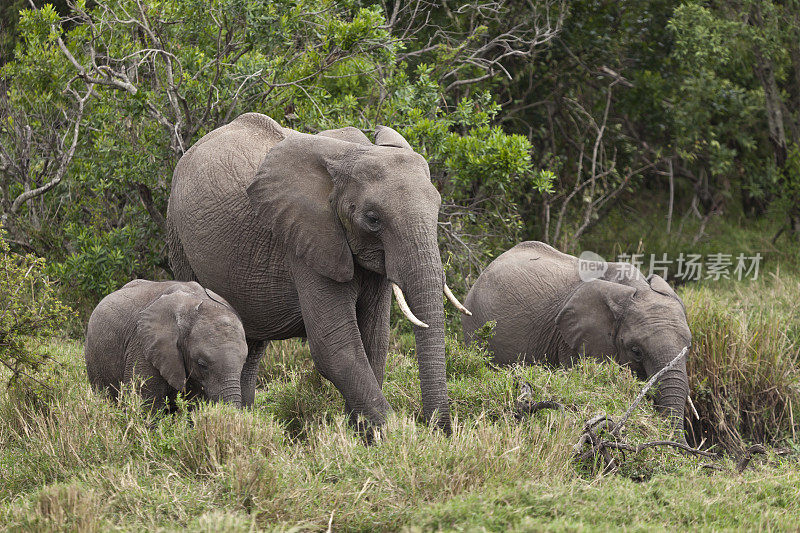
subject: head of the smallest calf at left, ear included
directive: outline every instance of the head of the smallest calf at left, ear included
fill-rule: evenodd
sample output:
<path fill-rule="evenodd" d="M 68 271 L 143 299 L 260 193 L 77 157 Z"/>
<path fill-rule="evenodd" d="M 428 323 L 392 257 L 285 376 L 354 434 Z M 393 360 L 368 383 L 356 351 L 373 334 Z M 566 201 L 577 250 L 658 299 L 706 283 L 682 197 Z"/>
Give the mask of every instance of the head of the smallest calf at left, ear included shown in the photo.
<path fill-rule="evenodd" d="M 172 388 L 192 383 L 212 401 L 241 407 L 244 328 L 220 296 L 207 293 L 176 290 L 144 308 L 137 323 L 144 355 Z"/>

